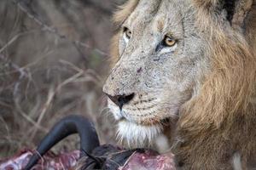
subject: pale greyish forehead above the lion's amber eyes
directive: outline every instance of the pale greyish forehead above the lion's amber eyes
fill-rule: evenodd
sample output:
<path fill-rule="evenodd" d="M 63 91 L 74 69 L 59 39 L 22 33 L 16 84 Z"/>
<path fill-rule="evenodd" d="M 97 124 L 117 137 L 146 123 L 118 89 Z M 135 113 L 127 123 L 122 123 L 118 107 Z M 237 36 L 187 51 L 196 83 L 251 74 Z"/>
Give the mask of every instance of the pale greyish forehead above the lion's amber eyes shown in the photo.
<path fill-rule="evenodd" d="M 183 3 L 183 0 L 173 0 L 172 3 L 170 0 L 141 0 L 125 21 L 125 25 L 137 31 L 133 32 L 137 37 L 152 31 L 171 30 L 178 34 L 182 31 L 183 14 L 187 14 L 185 11 L 189 8 L 187 4 L 188 2 Z"/>

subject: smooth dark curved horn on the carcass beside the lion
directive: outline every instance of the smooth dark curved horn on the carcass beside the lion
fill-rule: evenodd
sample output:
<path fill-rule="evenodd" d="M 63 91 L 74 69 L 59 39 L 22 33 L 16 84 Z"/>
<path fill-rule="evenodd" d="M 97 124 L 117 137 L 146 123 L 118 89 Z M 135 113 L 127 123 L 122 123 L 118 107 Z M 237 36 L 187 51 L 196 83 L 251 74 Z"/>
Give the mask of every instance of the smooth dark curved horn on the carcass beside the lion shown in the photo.
<path fill-rule="evenodd" d="M 38 145 L 37 152 L 32 155 L 27 163 L 25 170 L 31 169 L 51 147 L 73 133 L 79 133 L 80 157 L 90 153 L 100 145 L 96 129 L 90 121 L 85 119 L 84 116 L 67 116 L 57 122 L 44 137 Z"/>

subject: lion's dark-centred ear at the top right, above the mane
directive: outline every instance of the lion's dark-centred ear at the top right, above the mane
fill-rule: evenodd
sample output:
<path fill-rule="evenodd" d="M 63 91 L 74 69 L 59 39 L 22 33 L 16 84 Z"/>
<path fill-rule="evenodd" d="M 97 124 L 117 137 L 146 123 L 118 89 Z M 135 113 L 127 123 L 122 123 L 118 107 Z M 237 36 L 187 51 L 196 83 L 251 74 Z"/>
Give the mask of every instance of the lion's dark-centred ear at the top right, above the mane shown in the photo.
<path fill-rule="evenodd" d="M 255 0 L 194 0 L 199 8 L 217 20 L 226 20 L 233 27 L 242 27 Z"/>

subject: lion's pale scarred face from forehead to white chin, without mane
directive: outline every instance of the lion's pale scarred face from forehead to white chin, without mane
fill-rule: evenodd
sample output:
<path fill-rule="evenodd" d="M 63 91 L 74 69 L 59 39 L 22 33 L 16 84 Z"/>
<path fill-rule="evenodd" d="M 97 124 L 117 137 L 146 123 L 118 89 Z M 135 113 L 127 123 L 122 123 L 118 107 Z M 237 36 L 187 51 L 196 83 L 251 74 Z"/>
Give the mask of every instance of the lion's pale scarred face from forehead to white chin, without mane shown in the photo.
<path fill-rule="evenodd" d="M 119 60 L 103 88 L 121 139 L 144 147 L 174 122 L 207 71 L 205 44 L 188 0 L 139 1 L 120 28 Z"/>

